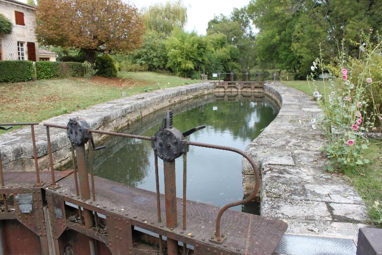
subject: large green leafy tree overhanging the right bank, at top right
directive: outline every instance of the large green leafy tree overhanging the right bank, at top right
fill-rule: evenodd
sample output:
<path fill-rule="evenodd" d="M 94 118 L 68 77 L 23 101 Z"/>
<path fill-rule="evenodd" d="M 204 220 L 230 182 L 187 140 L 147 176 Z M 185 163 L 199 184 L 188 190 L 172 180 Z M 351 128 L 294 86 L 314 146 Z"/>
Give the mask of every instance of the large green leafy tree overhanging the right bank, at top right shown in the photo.
<path fill-rule="evenodd" d="M 259 62 L 287 69 L 295 78 L 310 72 L 320 43 L 325 58 L 337 55 L 343 40 L 352 55 L 361 29 L 382 27 L 381 3 L 374 0 L 251 0 L 248 14 L 260 30 Z"/>

